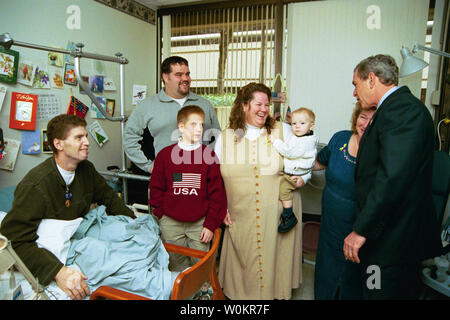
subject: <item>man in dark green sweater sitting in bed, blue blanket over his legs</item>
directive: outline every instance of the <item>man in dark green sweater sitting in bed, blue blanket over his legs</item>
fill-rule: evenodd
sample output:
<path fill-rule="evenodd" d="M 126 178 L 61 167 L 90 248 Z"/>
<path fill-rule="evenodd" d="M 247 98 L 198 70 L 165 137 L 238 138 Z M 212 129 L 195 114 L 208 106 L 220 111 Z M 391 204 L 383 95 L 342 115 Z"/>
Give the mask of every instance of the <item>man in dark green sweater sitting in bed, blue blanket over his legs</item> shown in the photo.
<path fill-rule="evenodd" d="M 85 120 L 56 116 L 47 137 L 53 157 L 17 185 L 0 233 L 43 286 L 54 282 L 72 299 L 85 298 L 109 278 L 126 291 L 168 299 L 177 273 L 167 269 L 158 226 L 148 215 L 134 219 L 87 160 Z M 89 211 L 92 203 L 100 207 Z"/>

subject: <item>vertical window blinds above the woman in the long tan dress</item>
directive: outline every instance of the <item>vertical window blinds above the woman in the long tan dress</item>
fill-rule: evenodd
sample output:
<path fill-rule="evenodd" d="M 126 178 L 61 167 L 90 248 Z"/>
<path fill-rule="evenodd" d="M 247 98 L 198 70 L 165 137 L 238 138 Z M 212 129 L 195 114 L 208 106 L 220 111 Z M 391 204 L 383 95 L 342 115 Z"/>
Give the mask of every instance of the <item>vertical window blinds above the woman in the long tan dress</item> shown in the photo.
<path fill-rule="evenodd" d="M 249 82 L 271 86 L 275 5 L 172 13 L 170 42 L 171 55 L 189 61 L 192 90 L 230 105 Z"/>

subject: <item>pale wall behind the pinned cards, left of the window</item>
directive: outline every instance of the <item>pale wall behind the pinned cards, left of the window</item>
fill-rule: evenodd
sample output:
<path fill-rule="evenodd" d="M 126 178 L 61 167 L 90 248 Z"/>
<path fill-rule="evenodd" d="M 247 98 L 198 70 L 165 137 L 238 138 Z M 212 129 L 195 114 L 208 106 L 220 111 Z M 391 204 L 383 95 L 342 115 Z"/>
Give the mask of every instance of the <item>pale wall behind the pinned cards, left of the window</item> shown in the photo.
<path fill-rule="evenodd" d="M 70 17 L 73 15 L 67 9 L 75 5 L 80 10 L 80 28 L 70 29 Z M 69 26 L 69 27 L 68 27 Z M 125 79 L 125 114 L 132 109 L 132 90 L 134 84 L 146 85 L 147 95 L 155 93 L 155 61 L 156 61 L 156 26 L 139 20 L 95 1 L 86 0 L 5 0 L 0 10 L 0 34 L 8 32 L 11 37 L 20 42 L 33 43 L 42 46 L 66 48 L 68 41 L 81 42 L 85 45 L 83 51 L 114 56 L 120 52 L 129 63 L 124 67 Z M 20 59 L 46 63 L 47 52 L 12 46 L 19 51 Z M 81 59 L 81 73 L 88 75 L 92 70 L 94 60 Z M 114 116 L 120 116 L 119 94 L 119 64 L 105 62 L 106 75 L 113 78 L 116 91 L 103 92 L 99 96 L 116 101 Z M 64 85 L 63 89 L 35 89 L 22 84 L 7 86 L 7 95 L 0 112 L 0 128 L 6 138 L 21 140 L 21 130 L 9 128 L 11 92 L 18 91 L 33 94 L 55 94 L 60 100 L 61 113 L 65 113 L 73 94 L 88 107 L 89 97 L 79 93 L 78 86 Z M 121 167 L 121 128 L 120 122 L 106 119 L 93 119 L 86 116 L 88 125 L 98 120 L 108 135 L 102 148 L 89 136 L 89 160 L 97 170 L 105 171 L 107 166 Z M 45 129 L 47 120 L 37 121 L 36 130 Z M 50 154 L 25 155 L 19 150 L 14 170 L 0 170 L 0 188 L 17 185 L 25 174 L 34 166 L 44 161 Z"/>

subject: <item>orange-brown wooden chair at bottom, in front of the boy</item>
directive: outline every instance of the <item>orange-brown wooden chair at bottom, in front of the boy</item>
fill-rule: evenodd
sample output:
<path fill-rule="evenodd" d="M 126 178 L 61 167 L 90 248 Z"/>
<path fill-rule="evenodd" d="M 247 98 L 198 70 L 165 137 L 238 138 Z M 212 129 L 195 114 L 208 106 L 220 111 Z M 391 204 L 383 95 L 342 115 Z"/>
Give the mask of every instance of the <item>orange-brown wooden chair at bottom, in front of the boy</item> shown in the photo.
<path fill-rule="evenodd" d="M 185 256 L 201 259 L 189 269 L 181 272 L 175 279 L 171 300 L 183 300 L 196 293 L 203 283 L 210 281 L 213 288 L 213 300 L 225 300 L 222 288 L 217 278 L 216 257 L 222 230 L 217 228 L 214 232 L 214 239 L 209 251 L 201 251 L 186 248 L 174 244 L 164 243 L 164 247 L 169 252 L 182 254 Z M 101 286 L 95 290 L 90 297 L 91 300 L 150 300 L 133 293 L 122 291 L 108 286 Z"/>

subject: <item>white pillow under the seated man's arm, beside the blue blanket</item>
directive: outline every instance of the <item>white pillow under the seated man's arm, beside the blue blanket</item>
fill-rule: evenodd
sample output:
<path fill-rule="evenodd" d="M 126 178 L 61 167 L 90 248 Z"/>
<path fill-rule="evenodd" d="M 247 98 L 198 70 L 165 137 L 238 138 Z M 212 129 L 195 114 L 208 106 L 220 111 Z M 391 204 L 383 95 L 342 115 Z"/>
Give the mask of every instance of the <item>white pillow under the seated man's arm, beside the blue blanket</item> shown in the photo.
<path fill-rule="evenodd" d="M 70 238 L 77 231 L 83 218 L 75 220 L 42 219 L 39 224 L 36 243 L 39 248 L 44 248 L 53 253 L 59 261 L 66 264 L 70 247 Z"/>

